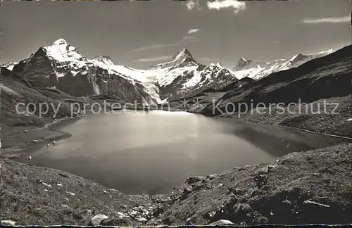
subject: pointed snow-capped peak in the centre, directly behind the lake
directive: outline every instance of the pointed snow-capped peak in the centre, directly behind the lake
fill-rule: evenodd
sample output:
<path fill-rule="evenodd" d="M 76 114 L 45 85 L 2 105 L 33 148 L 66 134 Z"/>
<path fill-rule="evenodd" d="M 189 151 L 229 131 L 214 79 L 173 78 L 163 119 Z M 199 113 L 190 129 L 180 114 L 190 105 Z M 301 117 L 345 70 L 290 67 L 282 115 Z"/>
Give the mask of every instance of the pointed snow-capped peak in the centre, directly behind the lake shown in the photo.
<path fill-rule="evenodd" d="M 237 78 L 220 63 L 203 65 L 187 49 L 177 52 L 170 61 L 153 65 L 144 71 L 148 80 L 158 84 L 163 101 L 177 99 L 196 90 L 223 87 Z"/>

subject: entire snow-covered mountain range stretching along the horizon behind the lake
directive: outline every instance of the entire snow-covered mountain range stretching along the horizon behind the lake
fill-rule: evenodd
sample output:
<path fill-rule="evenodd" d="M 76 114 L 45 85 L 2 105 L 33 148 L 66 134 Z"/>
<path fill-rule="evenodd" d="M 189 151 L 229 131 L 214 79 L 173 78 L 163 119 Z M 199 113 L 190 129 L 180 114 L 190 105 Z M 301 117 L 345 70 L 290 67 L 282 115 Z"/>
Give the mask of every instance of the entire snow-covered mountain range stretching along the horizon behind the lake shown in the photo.
<path fill-rule="evenodd" d="M 65 39 L 42 46 L 20 62 L 1 65 L 25 78 L 34 88 L 56 88 L 72 96 L 108 94 L 113 99 L 148 105 L 180 99 L 206 89 L 221 89 L 243 77 L 258 80 L 272 72 L 295 68 L 332 49 L 289 60 L 256 63 L 241 57 L 233 70 L 221 63 L 203 65 L 183 49 L 165 63 L 146 69 L 116 65 L 107 56 L 89 59 Z"/>

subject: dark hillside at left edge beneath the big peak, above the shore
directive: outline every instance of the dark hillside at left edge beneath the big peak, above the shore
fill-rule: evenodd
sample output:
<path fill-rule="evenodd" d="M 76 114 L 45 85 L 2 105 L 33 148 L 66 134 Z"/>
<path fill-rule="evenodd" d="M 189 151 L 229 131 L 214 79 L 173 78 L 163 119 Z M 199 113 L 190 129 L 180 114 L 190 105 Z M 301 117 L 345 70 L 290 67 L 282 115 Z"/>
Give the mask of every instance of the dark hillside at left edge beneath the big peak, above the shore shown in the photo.
<path fill-rule="evenodd" d="M 70 117 L 71 102 L 84 103 L 87 100 L 79 99 L 56 89 L 35 89 L 25 78 L 16 75 L 7 68 L 1 68 L 1 127 L 15 126 L 44 126 L 54 119 Z M 23 105 L 16 106 L 20 103 Z M 33 105 L 28 104 L 33 103 Z M 47 111 L 42 107 L 42 116 L 39 115 L 40 103 L 47 103 Z M 26 108 L 27 106 L 27 108 Z M 58 108 L 55 116 L 55 109 Z M 75 107 L 73 112 L 75 112 Z"/>

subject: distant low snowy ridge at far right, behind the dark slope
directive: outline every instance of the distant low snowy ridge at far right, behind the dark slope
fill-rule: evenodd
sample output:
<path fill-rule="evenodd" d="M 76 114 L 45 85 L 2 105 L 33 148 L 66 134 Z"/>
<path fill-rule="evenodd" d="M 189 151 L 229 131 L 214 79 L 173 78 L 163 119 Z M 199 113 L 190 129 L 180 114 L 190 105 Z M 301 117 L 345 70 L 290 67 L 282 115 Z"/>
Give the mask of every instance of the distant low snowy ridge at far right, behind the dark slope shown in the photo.
<path fill-rule="evenodd" d="M 233 69 L 234 75 L 241 79 L 242 77 L 251 77 L 258 80 L 262 77 L 266 77 L 273 72 L 288 70 L 291 68 L 296 68 L 303 63 L 306 63 L 313 58 L 320 58 L 322 56 L 327 56 L 329 53 L 334 52 L 332 49 L 327 51 L 321 51 L 318 53 L 310 53 L 308 55 L 303 55 L 298 53 L 296 56 L 290 59 L 279 59 L 272 61 L 270 63 L 264 62 L 253 62 L 251 60 L 246 60 L 241 57 L 237 65 Z"/>

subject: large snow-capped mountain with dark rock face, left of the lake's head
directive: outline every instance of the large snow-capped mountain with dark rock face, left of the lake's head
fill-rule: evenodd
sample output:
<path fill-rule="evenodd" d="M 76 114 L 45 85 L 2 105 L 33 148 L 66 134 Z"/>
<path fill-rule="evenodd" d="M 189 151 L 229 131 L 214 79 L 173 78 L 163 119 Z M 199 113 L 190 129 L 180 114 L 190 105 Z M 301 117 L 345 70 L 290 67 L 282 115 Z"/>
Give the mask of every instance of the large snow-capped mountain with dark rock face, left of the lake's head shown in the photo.
<path fill-rule="evenodd" d="M 110 94 L 125 101 L 156 103 L 134 69 L 114 65 L 110 58 L 88 59 L 64 39 L 42 46 L 13 67 L 34 87 L 56 87 L 74 96 Z"/>

